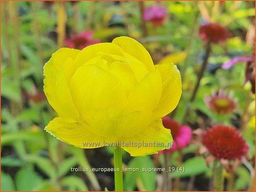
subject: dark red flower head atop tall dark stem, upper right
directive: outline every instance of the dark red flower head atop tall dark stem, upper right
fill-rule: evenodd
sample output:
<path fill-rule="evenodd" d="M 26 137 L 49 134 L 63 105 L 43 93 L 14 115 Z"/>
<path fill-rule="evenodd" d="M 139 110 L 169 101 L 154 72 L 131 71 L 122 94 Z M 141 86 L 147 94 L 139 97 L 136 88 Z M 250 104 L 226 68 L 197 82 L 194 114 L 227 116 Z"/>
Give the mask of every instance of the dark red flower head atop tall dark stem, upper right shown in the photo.
<path fill-rule="evenodd" d="M 199 27 L 198 32 L 204 41 L 212 43 L 220 43 L 228 38 L 227 29 L 218 23 L 203 24 Z"/>

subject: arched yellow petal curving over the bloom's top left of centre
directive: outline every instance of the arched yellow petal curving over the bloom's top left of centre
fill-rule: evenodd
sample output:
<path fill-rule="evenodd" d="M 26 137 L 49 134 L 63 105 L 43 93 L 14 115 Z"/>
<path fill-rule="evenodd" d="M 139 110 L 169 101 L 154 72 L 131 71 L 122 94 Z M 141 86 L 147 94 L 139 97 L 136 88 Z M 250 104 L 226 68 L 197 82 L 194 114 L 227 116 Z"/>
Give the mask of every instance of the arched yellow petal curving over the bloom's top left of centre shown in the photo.
<path fill-rule="evenodd" d="M 94 59 L 94 57 L 103 55 L 103 53 L 123 56 L 121 50 L 121 47 L 118 47 L 113 43 L 98 43 L 85 47 L 75 58 L 74 69 L 78 69 L 78 67 L 82 66 L 90 59 Z M 72 73 L 75 73 L 75 70 L 72 71 Z"/>

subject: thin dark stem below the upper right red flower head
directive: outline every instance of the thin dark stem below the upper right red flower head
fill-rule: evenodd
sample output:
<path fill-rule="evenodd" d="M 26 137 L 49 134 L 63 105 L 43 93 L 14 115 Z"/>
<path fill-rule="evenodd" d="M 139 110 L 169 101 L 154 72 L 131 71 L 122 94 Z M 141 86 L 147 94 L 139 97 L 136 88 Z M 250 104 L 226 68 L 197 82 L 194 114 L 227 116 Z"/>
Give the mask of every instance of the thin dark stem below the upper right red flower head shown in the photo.
<path fill-rule="evenodd" d="M 183 117 L 183 120 L 182 120 L 183 123 L 182 124 L 185 123 L 186 117 L 188 116 L 189 111 L 190 111 L 191 104 L 193 103 L 193 101 L 196 98 L 196 94 L 198 92 L 200 81 L 201 81 L 201 79 L 203 77 L 203 74 L 205 73 L 205 69 L 206 69 L 206 66 L 208 64 L 208 59 L 210 57 L 210 52 L 211 52 L 211 45 L 210 45 L 210 42 L 208 42 L 206 44 L 205 58 L 203 60 L 203 63 L 201 64 L 201 68 L 200 68 L 200 71 L 198 73 L 198 78 L 197 78 L 196 86 L 195 86 L 195 88 L 193 90 L 193 93 L 192 93 L 192 96 L 190 98 L 190 101 L 188 102 L 188 104 L 186 105 L 186 108 L 185 108 L 184 117 Z"/>

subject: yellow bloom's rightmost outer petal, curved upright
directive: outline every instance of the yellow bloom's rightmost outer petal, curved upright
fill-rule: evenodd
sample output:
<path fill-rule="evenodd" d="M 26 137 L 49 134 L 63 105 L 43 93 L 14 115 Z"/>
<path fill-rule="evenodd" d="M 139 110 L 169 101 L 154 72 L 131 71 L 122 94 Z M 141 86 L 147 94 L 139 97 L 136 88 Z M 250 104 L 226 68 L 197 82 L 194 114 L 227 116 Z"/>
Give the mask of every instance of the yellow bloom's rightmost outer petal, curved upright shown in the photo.
<path fill-rule="evenodd" d="M 173 111 L 181 98 L 181 76 L 174 64 L 156 65 L 162 76 L 162 96 L 155 111 L 159 118 Z"/>

